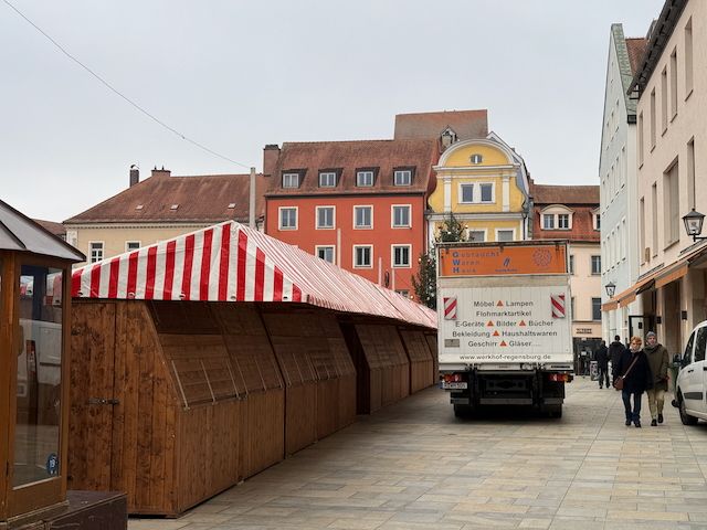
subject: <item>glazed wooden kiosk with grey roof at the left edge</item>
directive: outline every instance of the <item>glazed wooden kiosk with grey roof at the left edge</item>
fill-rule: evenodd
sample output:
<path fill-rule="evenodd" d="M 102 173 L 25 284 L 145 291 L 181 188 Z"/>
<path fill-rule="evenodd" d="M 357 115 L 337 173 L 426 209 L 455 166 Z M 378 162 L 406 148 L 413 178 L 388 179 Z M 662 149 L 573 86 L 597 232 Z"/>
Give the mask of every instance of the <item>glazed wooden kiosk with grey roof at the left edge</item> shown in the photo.
<path fill-rule="evenodd" d="M 0 529 L 88 528 L 95 501 L 113 502 L 92 516 L 102 528 L 127 523 L 123 496 L 66 491 L 68 278 L 83 259 L 0 201 Z"/>

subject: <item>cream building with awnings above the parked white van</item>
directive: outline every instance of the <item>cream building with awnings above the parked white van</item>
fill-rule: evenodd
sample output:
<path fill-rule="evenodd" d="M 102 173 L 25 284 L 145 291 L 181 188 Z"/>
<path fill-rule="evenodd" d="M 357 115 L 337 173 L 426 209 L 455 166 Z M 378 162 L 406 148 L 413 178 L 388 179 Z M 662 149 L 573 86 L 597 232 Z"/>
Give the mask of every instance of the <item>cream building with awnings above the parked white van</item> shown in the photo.
<path fill-rule="evenodd" d="M 639 97 L 639 278 L 614 301 L 636 297 L 643 331 L 655 327 L 671 353 L 683 350 L 707 317 L 707 245 L 688 236 L 683 216 L 707 211 L 707 2 L 667 0 L 648 34 L 631 85 Z M 704 179 L 703 179 L 704 181 Z"/>

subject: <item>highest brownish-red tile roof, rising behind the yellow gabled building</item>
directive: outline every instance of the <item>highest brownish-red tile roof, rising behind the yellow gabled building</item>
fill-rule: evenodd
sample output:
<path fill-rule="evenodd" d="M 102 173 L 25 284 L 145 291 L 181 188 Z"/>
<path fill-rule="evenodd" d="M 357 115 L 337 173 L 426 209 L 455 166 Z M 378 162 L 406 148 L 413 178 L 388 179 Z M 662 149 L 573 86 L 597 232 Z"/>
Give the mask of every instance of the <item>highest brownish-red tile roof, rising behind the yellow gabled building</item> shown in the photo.
<path fill-rule="evenodd" d="M 395 139 L 434 138 L 451 127 L 460 140 L 486 138 L 487 110 L 443 110 L 440 113 L 399 114 L 395 116 Z"/>

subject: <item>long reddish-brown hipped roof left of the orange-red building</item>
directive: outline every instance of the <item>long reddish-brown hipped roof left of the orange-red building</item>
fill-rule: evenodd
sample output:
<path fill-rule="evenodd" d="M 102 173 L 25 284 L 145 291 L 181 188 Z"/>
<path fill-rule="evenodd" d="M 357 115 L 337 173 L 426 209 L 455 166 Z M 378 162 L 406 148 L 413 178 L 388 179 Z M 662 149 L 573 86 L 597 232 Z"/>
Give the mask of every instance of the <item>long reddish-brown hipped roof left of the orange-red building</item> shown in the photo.
<path fill-rule="evenodd" d="M 170 177 L 167 171 L 157 173 L 64 223 L 247 222 L 250 174 Z M 255 216 L 258 218 L 264 214 L 264 177 L 257 174 L 255 183 Z M 229 208 L 231 203 L 234 208 Z M 175 204 L 178 206 L 172 209 Z"/>

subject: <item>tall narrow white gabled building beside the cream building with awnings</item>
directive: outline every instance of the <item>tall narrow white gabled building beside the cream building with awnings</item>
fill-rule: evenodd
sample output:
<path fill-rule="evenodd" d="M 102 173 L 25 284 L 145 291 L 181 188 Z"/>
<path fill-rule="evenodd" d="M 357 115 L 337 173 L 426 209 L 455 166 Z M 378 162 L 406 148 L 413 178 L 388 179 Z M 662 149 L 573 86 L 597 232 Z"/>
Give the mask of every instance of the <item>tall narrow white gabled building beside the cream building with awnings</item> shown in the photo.
<path fill-rule="evenodd" d="M 639 276 L 636 203 L 636 102 L 629 86 L 645 49 L 645 39 L 626 39 L 621 24 L 612 24 L 606 62 L 604 119 L 599 177 L 601 189 L 602 337 L 609 343 L 631 335 L 642 314 L 640 301 L 609 301 L 606 285 L 615 293 L 631 287 Z M 621 306 L 621 307 L 620 307 Z"/>

